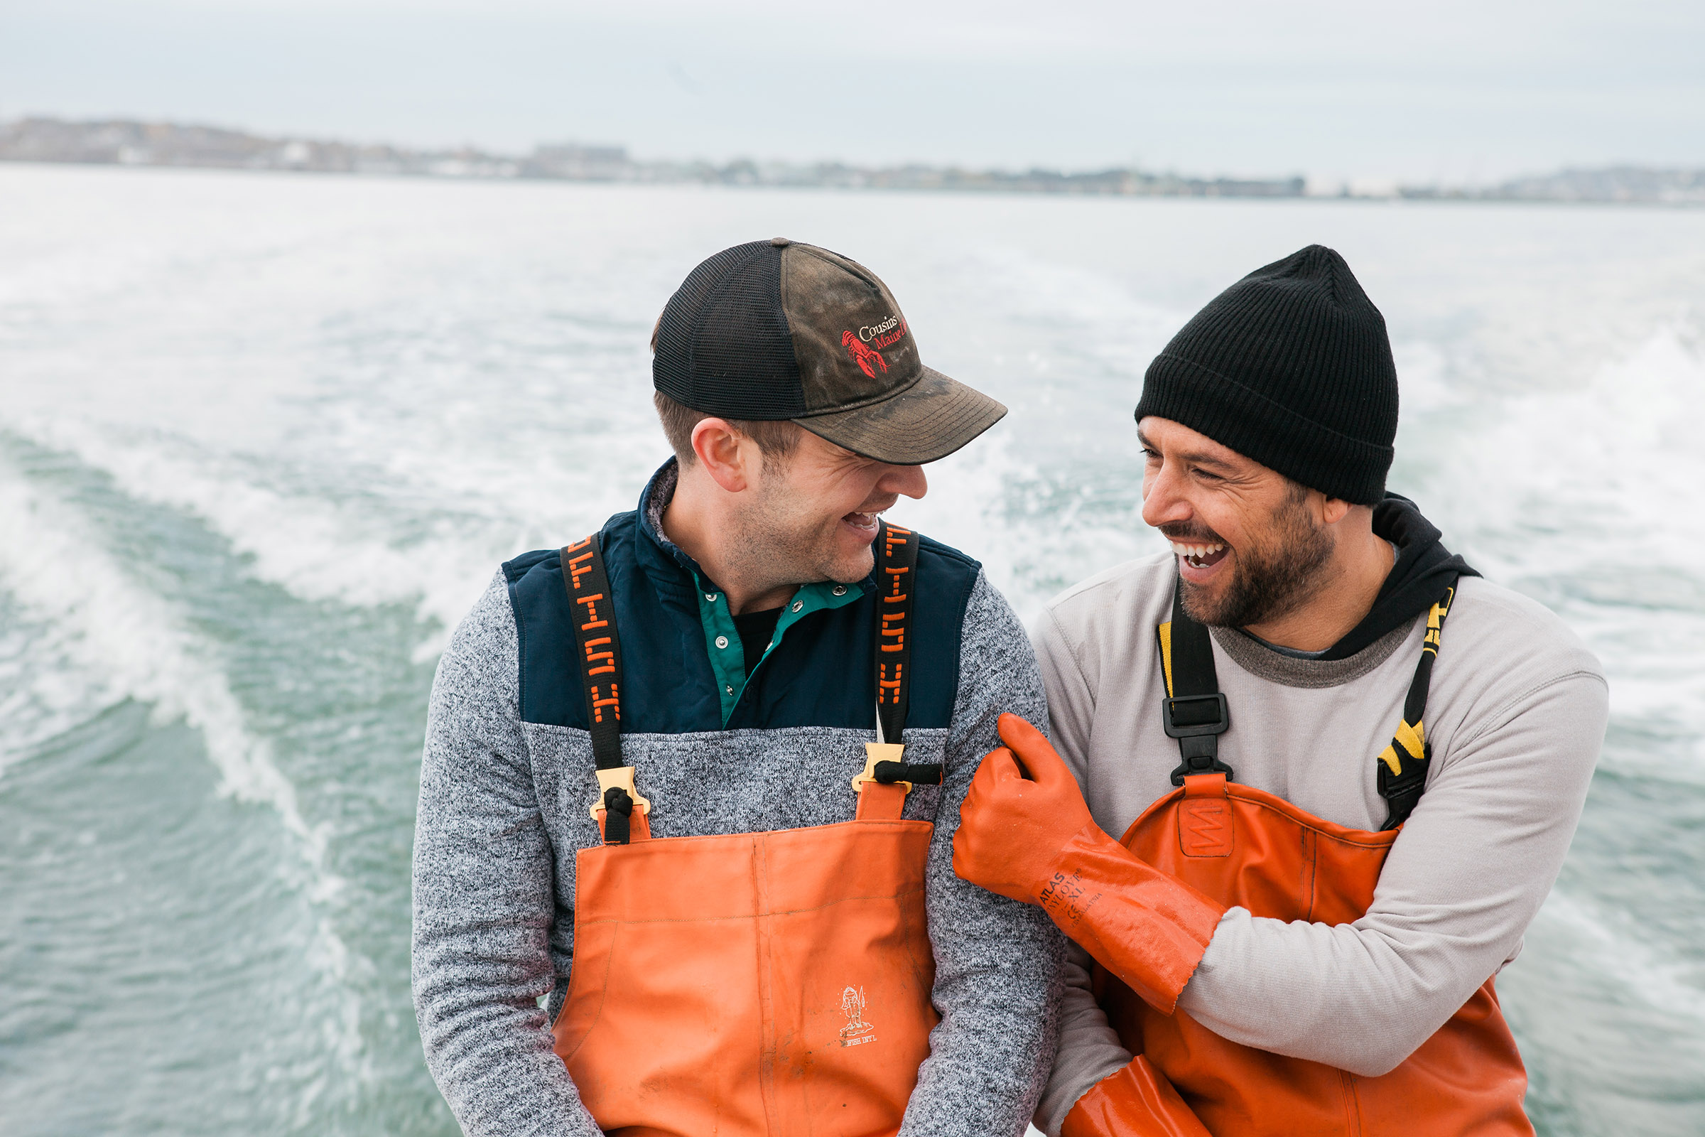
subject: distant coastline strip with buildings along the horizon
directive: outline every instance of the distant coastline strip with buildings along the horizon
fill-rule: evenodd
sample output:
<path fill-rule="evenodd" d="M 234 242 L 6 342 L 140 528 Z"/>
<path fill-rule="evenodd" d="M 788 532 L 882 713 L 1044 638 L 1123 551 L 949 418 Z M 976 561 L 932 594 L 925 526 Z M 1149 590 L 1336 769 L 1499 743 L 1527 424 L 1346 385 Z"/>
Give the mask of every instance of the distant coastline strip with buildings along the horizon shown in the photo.
<path fill-rule="evenodd" d="M 1705 205 L 1705 169 L 1615 165 L 1565 169 L 1492 186 L 1402 184 L 1384 179 L 1313 181 L 1303 176 L 1192 177 L 1132 167 L 997 170 L 957 165 L 844 162 L 639 160 L 616 145 L 551 143 L 527 155 L 462 147 L 414 150 L 135 119 L 22 118 L 0 123 L 0 162 L 164 165 L 462 179 L 549 179 L 788 186 L 825 189 L 946 189 L 1142 198 L 1407 198 L 1461 201 L 1592 201 Z"/>

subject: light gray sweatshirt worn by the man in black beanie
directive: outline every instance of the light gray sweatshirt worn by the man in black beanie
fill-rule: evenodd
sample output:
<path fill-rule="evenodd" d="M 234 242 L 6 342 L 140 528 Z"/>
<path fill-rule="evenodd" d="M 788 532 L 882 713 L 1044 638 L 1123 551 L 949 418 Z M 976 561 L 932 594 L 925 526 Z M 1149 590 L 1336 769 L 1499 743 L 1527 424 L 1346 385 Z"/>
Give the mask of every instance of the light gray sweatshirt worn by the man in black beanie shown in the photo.
<path fill-rule="evenodd" d="M 1067 590 L 1037 619 L 1054 745 L 1096 823 L 1120 837 L 1171 793 L 1178 743 L 1161 728 L 1154 627 L 1170 554 Z M 1420 656 L 1417 619 L 1335 661 L 1298 660 L 1214 629 L 1231 706 L 1219 753 L 1236 779 L 1354 828 L 1386 805 L 1376 755 L 1391 742 Z M 1427 793 L 1354 924 L 1231 909 L 1178 1006 L 1224 1038 L 1354 1074 L 1407 1059 L 1521 951 L 1581 818 L 1608 718 L 1598 660 L 1541 605 L 1485 580 L 1458 586 L 1432 672 Z M 1095 1004 L 1088 955 L 1066 968 L 1061 1052 L 1037 1123 L 1130 1060 Z"/>

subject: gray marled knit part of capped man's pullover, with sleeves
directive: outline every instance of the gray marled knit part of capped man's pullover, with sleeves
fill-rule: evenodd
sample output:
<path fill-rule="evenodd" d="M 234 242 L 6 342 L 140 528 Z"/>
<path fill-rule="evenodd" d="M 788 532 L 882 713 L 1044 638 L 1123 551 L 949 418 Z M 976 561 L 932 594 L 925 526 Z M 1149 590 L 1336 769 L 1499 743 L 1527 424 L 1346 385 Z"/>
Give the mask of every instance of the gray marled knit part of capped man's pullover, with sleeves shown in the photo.
<path fill-rule="evenodd" d="M 549 1016 L 573 965 L 575 852 L 587 817 L 585 731 L 520 716 L 518 634 L 503 574 L 457 627 L 433 682 L 414 842 L 414 1006 L 426 1064 L 462 1128 L 479 1137 L 593 1137 L 551 1048 Z M 941 1023 L 900 1134 L 1021 1134 L 1057 1038 L 1062 941 L 1040 909 L 953 874 L 970 777 L 1001 711 L 1045 723 L 1035 658 L 980 574 L 965 610 L 946 730 L 907 730 L 907 759 L 943 762 L 905 817 L 933 818 L 926 871 L 933 1001 Z M 629 660 L 629 672 L 641 667 Z M 656 803 L 655 837 L 852 820 L 847 769 L 875 733 L 822 726 L 624 735 Z M 742 776 L 743 772 L 743 776 Z M 667 1045 L 662 1040 L 660 1045 Z"/>

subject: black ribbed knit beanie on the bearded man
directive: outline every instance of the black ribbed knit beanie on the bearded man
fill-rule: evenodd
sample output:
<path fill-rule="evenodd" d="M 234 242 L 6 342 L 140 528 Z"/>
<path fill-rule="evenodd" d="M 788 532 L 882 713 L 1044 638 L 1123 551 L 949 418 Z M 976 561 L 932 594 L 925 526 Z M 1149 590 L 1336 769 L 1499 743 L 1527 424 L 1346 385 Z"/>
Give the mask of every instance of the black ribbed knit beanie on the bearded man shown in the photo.
<path fill-rule="evenodd" d="M 1183 423 L 1328 498 L 1384 494 L 1396 365 L 1384 317 L 1325 245 L 1258 268 L 1183 326 L 1142 378 L 1137 419 Z"/>

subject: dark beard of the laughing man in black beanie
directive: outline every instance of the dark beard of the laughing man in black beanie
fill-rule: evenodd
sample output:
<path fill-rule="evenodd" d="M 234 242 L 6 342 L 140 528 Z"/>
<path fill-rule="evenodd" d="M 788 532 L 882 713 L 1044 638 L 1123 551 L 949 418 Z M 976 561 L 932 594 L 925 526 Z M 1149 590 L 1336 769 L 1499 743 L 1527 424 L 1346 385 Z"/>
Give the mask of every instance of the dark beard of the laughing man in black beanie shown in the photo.
<path fill-rule="evenodd" d="M 1219 597 L 1178 578 L 1185 614 L 1211 627 L 1248 627 L 1289 615 L 1311 598 L 1320 569 L 1332 561 L 1332 532 L 1315 525 L 1298 496 L 1274 511 L 1272 544 L 1236 551 L 1236 569 Z"/>

